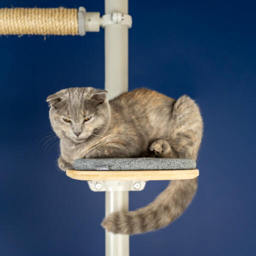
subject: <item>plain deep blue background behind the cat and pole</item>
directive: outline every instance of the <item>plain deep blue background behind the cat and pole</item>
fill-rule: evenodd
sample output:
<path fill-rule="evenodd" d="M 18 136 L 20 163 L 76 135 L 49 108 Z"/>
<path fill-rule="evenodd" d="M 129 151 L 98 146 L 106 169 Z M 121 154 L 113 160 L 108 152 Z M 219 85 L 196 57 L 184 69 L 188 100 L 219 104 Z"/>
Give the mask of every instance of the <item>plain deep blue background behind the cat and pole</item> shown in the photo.
<path fill-rule="evenodd" d="M 84 5 L 104 13 L 103 0 L 0 1 L 11 5 Z M 131 236 L 131 255 L 255 254 L 255 7 L 253 1 L 130 0 L 129 88 L 175 98 L 186 93 L 204 119 L 197 195 L 168 227 Z M 103 38 L 102 29 L 46 40 L 0 37 L 1 255 L 104 254 L 104 193 L 58 170 L 57 140 L 46 149 L 46 138 L 38 145 L 51 131 L 48 94 L 73 85 L 103 88 Z M 166 184 L 150 181 L 130 192 L 130 209 Z"/>

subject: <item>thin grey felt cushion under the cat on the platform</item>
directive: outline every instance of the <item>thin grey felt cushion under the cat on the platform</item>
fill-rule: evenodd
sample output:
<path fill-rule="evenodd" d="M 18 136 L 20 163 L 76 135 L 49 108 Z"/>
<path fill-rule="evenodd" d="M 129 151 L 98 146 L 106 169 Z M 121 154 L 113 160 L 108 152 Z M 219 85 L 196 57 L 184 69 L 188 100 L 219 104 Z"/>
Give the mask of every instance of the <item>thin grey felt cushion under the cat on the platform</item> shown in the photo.
<path fill-rule="evenodd" d="M 181 158 L 87 158 L 74 160 L 76 170 L 178 170 L 194 169 L 192 159 Z"/>

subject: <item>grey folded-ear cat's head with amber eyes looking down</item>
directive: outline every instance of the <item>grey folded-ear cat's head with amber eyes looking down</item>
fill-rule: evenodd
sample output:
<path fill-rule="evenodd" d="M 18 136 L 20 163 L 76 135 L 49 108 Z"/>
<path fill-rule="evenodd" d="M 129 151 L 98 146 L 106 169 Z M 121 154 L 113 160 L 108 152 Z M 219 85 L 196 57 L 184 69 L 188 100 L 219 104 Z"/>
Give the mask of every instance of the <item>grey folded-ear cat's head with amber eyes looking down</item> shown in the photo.
<path fill-rule="evenodd" d="M 49 95 L 50 123 L 58 137 L 82 142 L 99 138 L 108 126 L 110 107 L 106 90 L 92 87 L 72 87 Z"/>

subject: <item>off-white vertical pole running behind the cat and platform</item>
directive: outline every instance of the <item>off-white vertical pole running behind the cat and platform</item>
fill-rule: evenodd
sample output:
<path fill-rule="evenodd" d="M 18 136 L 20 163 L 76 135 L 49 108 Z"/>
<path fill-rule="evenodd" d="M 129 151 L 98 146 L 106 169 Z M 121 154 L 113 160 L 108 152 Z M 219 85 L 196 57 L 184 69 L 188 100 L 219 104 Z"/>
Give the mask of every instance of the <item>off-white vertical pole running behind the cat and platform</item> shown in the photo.
<path fill-rule="evenodd" d="M 128 0 L 105 0 L 105 14 L 112 12 L 128 14 Z M 128 90 L 128 26 L 109 24 L 104 30 L 105 89 L 110 99 Z M 115 183 L 117 185 L 118 181 Z M 113 211 L 128 210 L 128 193 L 128 191 L 105 191 L 105 215 Z M 105 232 L 105 256 L 128 255 L 129 236 Z"/>

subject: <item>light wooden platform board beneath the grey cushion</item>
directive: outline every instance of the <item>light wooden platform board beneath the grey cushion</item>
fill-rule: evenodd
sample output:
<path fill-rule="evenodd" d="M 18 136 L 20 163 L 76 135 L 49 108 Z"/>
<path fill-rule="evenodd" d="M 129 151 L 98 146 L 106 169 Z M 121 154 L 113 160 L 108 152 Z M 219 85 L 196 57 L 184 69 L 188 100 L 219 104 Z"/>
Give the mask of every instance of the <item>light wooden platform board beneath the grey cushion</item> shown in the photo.
<path fill-rule="evenodd" d="M 66 170 L 66 175 L 79 180 L 173 180 L 195 178 L 199 170 Z"/>

